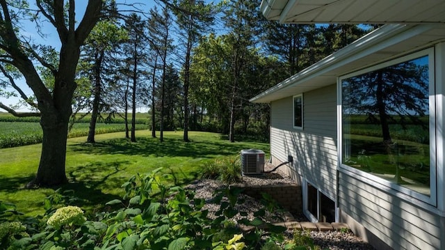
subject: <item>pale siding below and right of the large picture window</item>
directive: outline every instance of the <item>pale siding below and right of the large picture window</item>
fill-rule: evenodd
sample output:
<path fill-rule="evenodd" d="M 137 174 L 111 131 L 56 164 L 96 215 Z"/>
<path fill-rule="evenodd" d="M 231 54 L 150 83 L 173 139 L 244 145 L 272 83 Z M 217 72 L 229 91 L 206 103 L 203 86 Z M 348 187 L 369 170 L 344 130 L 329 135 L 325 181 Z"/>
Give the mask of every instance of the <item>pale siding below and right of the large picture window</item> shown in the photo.
<path fill-rule="evenodd" d="M 445 51 L 440 51 L 441 46 L 443 49 L 443 44 L 436 46 L 437 52 L 431 58 L 435 57 L 436 60 L 441 56 L 445 58 Z M 444 163 L 443 153 L 441 153 L 443 152 L 442 127 L 444 127 L 445 113 L 444 104 L 440 103 L 444 95 L 445 77 L 443 77 L 444 67 L 441 62 L 437 60 L 435 63 L 436 72 L 431 78 L 436 80 L 436 96 L 430 94 L 430 104 L 434 101 L 437 104 L 436 113 L 431 112 L 431 116 L 437 116 L 437 130 L 430 134 L 432 141 L 437 142 L 438 152 L 437 159 L 432 161 L 437 162 L 436 165 L 432 165 L 437 166 L 437 172 L 432 173 L 433 184 L 431 185 L 431 200 L 435 201 L 437 196 L 437 205 L 410 195 L 411 193 L 396 192 L 394 187 L 375 180 L 371 175 L 339 169 L 337 204 L 341 212 L 353 217 L 393 249 L 445 249 L 444 178 L 442 178 Z M 434 124 L 431 127 L 434 127 Z M 436 146 L 430 148 L 436 150 Z M 434 184 L 436 180 L 437 187 Z"/>

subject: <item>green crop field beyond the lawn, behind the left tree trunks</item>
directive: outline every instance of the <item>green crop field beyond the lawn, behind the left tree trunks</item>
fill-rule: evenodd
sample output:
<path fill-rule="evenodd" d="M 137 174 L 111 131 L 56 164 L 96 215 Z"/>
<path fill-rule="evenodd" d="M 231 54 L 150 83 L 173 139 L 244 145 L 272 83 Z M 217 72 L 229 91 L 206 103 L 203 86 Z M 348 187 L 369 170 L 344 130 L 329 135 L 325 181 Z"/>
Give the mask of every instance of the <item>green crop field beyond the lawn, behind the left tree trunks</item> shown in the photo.
<path fill-rule="evenodd" d="M 147 116 L 147 114 L 138 114 L 136 116 L 136 130 L 148 129 Z M 74 123 L 68 137 L 88 135 L 90 126 L 88 119 L 90 119 L 89 115 L 81 121 Z M 17 118 L 8 113 L 0 113 L 0 148 L 13 148 L 41 143 L 42 128 L 40 127 L 39 120 L 40 118 L 38 117 Z M 108 123 L 102 121 L 96 125 L 96 134 L 122 131 L 125 131 L 125 125 L 124 119 L 120 117 L 108 120 Z"/>

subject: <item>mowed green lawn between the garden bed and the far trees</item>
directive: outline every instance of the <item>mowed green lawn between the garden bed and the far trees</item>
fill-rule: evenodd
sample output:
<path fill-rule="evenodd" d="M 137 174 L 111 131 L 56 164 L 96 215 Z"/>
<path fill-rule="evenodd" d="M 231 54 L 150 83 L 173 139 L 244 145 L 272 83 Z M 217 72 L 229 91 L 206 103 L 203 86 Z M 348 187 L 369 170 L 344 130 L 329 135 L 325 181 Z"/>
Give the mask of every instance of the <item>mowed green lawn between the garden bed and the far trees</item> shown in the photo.
<path fill-rule="evenodd" d="M 159 133 L 158 133 L 159 136 Z M 124 139 L 124 133 L 98 134 L 97 143 L 85 143 L 86 137 L 68 139 L 66 173 L 70 183 L 63 190 L 73 190 L 76 205 L 87 211 L 122 198 L 122 183 L 132 175 L 150 173 L 163 167 L 165 182 L 186 185 L 200 178 L 202 167 L 220 157 L 238 155 L 245 148 L 268 152 L 268 143 L 230 143 L 220 134 L 189 132 L 190 143 L 182 141 L 181 132 L 164 132 L 165 141 L 152 138 L 151 132 L 136 132 L 136 143 Z M 15 203 L 28 215 L 44 212 L 44 198 L 54 189 L 24 189 L 38 169 L 42 144 L 0 149 L 0 200 Z"/>

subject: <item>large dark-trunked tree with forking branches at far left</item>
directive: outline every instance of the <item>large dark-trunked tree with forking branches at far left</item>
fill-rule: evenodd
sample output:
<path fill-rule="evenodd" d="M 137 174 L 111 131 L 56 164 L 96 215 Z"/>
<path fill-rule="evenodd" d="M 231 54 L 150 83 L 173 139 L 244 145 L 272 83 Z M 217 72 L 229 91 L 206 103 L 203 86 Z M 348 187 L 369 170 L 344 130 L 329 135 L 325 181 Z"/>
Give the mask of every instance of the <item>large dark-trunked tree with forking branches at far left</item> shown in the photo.
<path fill-rule="evenodd" d="M 65 156 L 72 97 L 76 90 L 76 65 L 80 47 L 98 22 L 104 1 L 89 0 L 82 18 L 76 18 L 74 0 L 37 0 L 35 6 L 36 10 L 30 10 L 27 1 L 0 1 L 1 62 L 16 68 L 33 91 L 36 102 L 32 102 L 32 98 L 26 98 L 26 101 L 38 109 L 43 130 L 40 164 L 28 187 L 67 182 Z M 36 26 L 46 22 L 45 25 L 56 29 L 60 40 L 56 63 L 47 61 L 45 53 L 49 49 L 46 45 L 35 45 L 23 35 L 21 24 L 30 16 Z M 54 76 L 54 86 L 44 84 L 38 72 L 39 65 L 49 69 Z M 1 107 L 18 115 L 6 105 Z"/>

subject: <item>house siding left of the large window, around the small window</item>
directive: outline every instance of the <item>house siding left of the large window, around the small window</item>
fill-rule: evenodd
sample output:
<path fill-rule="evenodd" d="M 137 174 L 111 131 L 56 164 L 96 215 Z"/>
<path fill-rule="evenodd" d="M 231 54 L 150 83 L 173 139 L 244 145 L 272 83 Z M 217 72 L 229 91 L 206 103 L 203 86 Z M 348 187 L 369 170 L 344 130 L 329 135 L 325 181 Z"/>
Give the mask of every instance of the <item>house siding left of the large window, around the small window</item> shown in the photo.
<path fill-rule="evenodd" d="M 280 162 L 293 157 L 289 172 L 335 199 L 337 183 L 336 84 L 303 93 L 303 129 L 294 129 L 293 97 L 271 103 L 270 154 Z"/>

